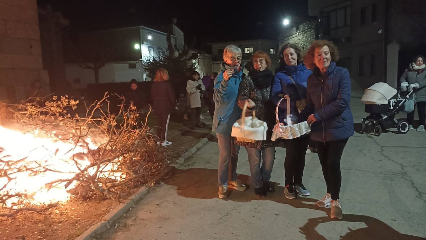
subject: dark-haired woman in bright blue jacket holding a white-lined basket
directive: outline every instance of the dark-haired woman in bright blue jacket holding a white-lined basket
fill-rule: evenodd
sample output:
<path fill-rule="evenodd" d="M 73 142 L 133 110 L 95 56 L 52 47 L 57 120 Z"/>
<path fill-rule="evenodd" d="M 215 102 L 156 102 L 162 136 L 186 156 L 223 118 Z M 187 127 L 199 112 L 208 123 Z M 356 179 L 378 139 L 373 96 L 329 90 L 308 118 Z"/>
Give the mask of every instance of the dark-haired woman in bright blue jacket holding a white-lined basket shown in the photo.
<path fill-rule="evenodd" d="M 280 67 L 276 69 L 271 100 L 277 105 L 282 96 L 289 95 L 290 113 L 299 119 L 299 110 L 302 110 L 306 105 L 306 81 L 312 71 L 303 64 L 303 50 L 295 43 L 288 43 L 282 46 L 279 56 Z M 278 110 L 280 122 L 284 122 L 284 119 L 286 119 L 286 109 L 287 100 L 283 99 L 279 104 Z M 302 183 L 308 142 L 309 135 L 295 139 L 285 139 L 284 194 L 288 199 L 296 198 L 296 192 L 302 196 L 310 195 L 308 189 Z"/>

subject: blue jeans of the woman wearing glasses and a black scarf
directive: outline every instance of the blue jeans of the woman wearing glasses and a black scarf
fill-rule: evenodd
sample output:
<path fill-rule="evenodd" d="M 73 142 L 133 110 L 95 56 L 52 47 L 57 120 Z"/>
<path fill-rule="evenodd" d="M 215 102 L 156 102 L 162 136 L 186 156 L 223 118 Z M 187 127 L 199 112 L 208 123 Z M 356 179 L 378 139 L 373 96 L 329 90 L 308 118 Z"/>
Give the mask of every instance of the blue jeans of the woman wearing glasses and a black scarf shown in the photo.
<path fill-rule="evenodd" d="M 261 188 L 263 182 L 271 179 L 273 162 L 275 161 L 275 147 L 266 147 L 263 149 L 245 148 L 248 153 L 248 162 L 250 164 L 251 178 L 255 188 Z M 262 167 L 260 159 L 263 159 Z"/>

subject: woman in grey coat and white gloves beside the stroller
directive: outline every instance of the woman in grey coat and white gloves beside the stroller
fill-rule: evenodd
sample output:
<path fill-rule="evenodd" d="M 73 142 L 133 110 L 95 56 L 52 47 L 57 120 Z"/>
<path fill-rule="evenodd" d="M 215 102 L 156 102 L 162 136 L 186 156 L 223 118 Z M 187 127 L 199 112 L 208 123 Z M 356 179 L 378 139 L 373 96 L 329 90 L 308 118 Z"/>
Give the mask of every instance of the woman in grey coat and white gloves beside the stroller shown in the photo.
<path fill-rule="evenodd" d="M 407 121 L 410 129 L 413 129 L 414 111 L 417 107 L 419 113 L 418 132 L 423 132 L 426 125 L 426 65 L 422 55 L 414 57 L 412 63 L 405 69 L 400 78 L 401 90 L 411 91 L 414 89 L 416 104 L 411 113 L 407 113 Z"/>

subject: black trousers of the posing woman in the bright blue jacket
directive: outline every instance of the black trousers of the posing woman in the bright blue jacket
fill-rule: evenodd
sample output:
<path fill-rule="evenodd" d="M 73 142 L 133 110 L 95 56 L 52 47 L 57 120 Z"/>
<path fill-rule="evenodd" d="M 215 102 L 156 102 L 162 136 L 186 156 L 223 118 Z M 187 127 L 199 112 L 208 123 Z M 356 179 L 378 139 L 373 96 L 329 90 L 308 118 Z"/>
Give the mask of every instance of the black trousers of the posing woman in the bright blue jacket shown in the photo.
<path fill-rule="evenodd" d="M 301 184 L 309 136 L 285 139 L 285 185 Z"/>

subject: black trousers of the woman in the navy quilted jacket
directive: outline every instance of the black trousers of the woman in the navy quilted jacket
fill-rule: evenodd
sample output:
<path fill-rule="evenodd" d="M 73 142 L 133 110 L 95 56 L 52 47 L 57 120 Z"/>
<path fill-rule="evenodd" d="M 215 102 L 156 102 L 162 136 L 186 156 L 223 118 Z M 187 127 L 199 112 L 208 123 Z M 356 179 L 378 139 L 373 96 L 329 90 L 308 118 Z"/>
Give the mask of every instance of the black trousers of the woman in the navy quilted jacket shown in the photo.
<path fill-rule="evenodd" d="M 322 174 L 324 175 L 327 193 L 331 194 L 332 200 L 340 198 L 340 186 L 342 185 L 342 173 L 340 172 L 340 159 L 348 139 L 315 142 L 318 158 L 320 159 Z"/>

